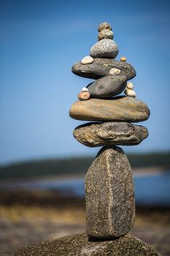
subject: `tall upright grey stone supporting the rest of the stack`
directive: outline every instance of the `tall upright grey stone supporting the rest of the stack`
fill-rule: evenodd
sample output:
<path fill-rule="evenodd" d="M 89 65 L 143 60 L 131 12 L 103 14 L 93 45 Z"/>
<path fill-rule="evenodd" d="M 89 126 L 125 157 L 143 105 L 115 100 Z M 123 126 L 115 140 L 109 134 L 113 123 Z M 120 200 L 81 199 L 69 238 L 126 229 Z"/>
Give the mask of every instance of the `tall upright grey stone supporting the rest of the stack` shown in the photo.
<path fill-rule="evenodd" d="M 86 233 L 114 239 L 130 231 L 135 221 L 133 175 L 121 148 L 102 148 L 85 179 Z"/>

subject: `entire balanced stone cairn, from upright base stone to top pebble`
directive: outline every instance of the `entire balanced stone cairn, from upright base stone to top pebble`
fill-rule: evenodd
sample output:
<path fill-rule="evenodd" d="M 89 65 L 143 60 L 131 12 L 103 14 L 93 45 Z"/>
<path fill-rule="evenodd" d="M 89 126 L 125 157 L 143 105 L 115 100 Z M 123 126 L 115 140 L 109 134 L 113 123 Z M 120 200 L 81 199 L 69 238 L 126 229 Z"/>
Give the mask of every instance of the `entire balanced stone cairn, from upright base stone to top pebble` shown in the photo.
<path fill-rule="evenodd" d="M 133 90 L 135 69 L 123 56 L 115 60 L 118 47 L 112 27 L 98 27 L 98 42 L 90 56 L 72 67 L 80 77 L 92 78 L 73 103 L 73 119 L 92 121 L 76 127 L 73 136 L 89 147 L 101 147 L 86 174 L 86 234 L 89 239 L 115 239 L 130 231 L 135 221 L 135 197 L 130 163 L 117 145 L 138 145 L 148 137 L 146 127 L 132 124 L 145 121 L 148 106 Z M 117 96 L 124 91 L 125 95 Z"/>

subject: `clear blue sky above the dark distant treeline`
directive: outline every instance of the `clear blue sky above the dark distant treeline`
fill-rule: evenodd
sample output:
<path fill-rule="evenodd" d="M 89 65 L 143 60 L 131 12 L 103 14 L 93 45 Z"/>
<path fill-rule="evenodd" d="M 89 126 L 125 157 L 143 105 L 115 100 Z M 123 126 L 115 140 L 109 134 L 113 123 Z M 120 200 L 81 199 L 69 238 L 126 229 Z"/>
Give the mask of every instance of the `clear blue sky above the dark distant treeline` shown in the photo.
<path fill-rule="evenodd" d="M 149 137 L 125 152 L 170 150 L 169 1 L 0 1 L 0 163 L 96 155 L 77 142 L 82 124 L 68 116 L 91 80 L 71 67 L 97 42 L 97 27 L 112 25 L 121 56 L 135 67 L 137 98 L 151 117 Z"/>

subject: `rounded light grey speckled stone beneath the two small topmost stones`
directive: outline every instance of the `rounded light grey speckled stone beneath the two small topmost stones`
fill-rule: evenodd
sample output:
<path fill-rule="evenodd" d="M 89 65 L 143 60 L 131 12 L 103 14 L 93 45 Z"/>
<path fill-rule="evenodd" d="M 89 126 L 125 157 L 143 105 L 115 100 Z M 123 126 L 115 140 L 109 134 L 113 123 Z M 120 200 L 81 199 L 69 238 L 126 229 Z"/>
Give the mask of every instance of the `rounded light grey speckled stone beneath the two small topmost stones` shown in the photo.
<path fill-rule="evenodd" d="M 115 41 L 102 39 L 95 43 L 90 49 L 90 56 L 93 58 L 112 58 L 115 59 L 119 49 Z"/>

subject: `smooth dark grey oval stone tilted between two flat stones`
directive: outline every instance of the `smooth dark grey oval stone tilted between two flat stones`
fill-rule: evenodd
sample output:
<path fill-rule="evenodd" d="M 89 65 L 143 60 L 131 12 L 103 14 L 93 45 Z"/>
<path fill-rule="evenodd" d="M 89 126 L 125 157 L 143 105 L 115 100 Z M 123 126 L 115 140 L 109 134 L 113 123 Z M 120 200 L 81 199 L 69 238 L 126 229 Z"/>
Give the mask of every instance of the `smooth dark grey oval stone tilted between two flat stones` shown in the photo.
<path fill-rule="evenodd" d="M 109 98 L 122 93 L 126 88 L 127 79 L 122 75 L 102 77 L 87 85 L 92 98 Z"/>

